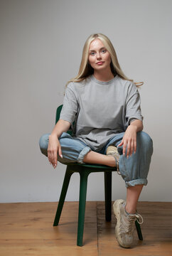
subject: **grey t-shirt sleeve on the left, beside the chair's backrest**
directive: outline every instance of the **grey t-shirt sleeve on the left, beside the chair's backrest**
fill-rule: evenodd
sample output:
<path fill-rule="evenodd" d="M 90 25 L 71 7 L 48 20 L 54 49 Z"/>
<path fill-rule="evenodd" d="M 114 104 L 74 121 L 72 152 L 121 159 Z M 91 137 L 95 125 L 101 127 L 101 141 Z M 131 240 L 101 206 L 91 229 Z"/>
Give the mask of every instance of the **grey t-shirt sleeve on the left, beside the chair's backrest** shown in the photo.
<path fill-rule="evenodd" d="M 65 121 L 74 122 L 75 115 L 77 114 L 77 95 L 72 86 L 72 83 L 68 84 L 65 90 L 65 97 L 63 100 L 63 108 L 60 112 L 60 119 Z"/>

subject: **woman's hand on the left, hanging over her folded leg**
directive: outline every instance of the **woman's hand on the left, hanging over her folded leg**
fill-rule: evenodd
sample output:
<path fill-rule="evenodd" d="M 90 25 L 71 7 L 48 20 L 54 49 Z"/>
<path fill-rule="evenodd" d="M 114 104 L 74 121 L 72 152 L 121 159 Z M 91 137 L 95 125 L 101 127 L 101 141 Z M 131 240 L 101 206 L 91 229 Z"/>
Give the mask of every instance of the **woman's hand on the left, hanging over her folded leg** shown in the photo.
<path fill-rule="evenodd" d="M 53 165 L 54 169 L 58 164 L 58 154 L 61 158 L 62 150 L 57 135 L 50 134 L 48 142 L 48 160 Z"/>

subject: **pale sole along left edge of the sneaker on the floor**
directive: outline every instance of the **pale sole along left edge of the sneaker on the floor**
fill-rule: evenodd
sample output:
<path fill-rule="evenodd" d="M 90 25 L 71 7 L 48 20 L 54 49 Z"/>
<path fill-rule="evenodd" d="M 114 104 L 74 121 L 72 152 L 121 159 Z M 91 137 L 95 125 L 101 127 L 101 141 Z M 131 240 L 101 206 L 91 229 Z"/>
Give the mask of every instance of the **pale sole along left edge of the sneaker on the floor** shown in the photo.
<path fill-rule="evenodd" d="M 113 204 L 113 210 L 114 210 L 114 215 L 115 217 L 117 218 L 117 225 L 115 227 L 115 235 L 116 235 L 116 238 L 117 238 L 117 241 L 119 243 L 120 246 L 124 247 L 124 248 L 129 248 L 131 246 L 129 245 L 124 245 L 121 238 L 119 237 L 119 222 L 120 222 L 120 211 L 119 211 L 119 205 L 124 203 L 125 201 L 122 200 L 122 199 L 119 199 L 117 201 L 114 202 Z"/>

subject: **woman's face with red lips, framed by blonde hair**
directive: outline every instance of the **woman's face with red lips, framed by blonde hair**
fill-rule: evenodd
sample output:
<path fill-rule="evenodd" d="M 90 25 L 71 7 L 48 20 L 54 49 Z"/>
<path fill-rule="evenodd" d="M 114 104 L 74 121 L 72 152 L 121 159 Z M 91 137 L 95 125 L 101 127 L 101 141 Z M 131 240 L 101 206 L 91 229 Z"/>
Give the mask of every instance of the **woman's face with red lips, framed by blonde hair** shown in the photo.
<path fill-rule="evenodd" d="M 90 43 L 88 61 L 92 68 L 97 71 L 110 68 L 110 54 L 98 38 Z"/>

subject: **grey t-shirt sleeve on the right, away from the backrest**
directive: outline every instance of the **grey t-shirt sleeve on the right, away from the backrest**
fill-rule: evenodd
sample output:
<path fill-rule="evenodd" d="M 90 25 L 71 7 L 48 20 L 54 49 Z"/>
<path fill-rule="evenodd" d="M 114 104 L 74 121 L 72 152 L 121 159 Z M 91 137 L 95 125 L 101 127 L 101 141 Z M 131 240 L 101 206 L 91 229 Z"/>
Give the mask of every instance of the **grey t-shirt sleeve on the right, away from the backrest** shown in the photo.
<path fill-rule="evenodd" d="M 137 90 L 134 82 L 131 82 L 127 92 L 126 100 L 126 121 L 127 125 L 136 119 L 143 120 L 144 117 L 141 115 L 141 99 L 139 91 Z"/>

